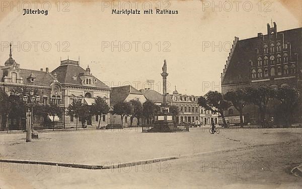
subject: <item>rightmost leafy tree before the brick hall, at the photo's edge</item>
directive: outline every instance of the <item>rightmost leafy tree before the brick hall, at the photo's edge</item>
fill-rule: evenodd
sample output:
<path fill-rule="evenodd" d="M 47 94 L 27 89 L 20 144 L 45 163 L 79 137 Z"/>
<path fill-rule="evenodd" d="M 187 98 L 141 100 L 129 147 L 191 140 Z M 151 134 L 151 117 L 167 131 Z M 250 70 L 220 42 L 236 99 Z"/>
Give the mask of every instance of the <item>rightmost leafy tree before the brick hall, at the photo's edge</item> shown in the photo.
<path fill-rule="evenodd" d="M 290 118 L 299 105 L 300 98 L 300 91 L 290 86 L 280 87 L 276 92 L 276 99 L 280 101 L 278 110 L 287 127 L 290 124 Z"/>

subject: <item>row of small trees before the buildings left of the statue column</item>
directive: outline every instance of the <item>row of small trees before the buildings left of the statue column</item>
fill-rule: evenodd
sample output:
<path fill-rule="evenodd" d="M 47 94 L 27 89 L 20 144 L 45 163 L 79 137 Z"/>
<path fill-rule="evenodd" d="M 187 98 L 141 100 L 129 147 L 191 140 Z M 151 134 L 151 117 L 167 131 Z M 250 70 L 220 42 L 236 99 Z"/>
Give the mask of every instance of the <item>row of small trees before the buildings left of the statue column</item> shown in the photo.
<path fill-rule="evenodd" d="M 28 97 L 28 102 L 24 102 L 23 97 Z M 38 91 L 34 91 L 33 96 L 38 96 Z M 146 101 L 141 104 L 139 101 L 130 100 L 129 102 L 118 102 L 113 106 L 110 111 L 110 107 L 106 101 L 97 97 L 92 106 L 88 106 L 82 103 L 81 100 L 74 100 L 68 105 L 66 111 L 64 108 L 55 104 L 40 105 L 37 102 L 31 101 L 30 91 L 27 88 L 16 88 L 12 89 L 10 95 L 4 90 L 0 89 L 0 114 L 5 115 L 7 119 L 10 118 L 22 118 L 25 117 L 25 111 L 30 109 L 34 115 L 41 116 L 44 118 L 44 122 L 47 120 L 47 116 L 52 118 L 53 129 L 55 128 L 54 118 L 55 116 L 62 116 L 64 113 L 67 116 L 74 117 L 76 122 L 76 129 L 78 129 L 78 120 L 81 118 L 81 122 L 84 125 L 91 116 L 96 115 L 100 118 L 108 113 L 120 115 L 121 123 L 125 116 L 130 116 L 130 126 L 132 126 L 133 119 L 136 118 L 138 121 L 144 117 L 145 122 L 149 123 L 154 118 L 156 113 L 161 111 L 160 107 L 155 105 L 152 101 Z M 178 114 L 178 108 L 175 106 L 170 107 L 170 112 Z M 101 119 L 99 119 L 98 128 L 100 127 Z M 6 121 L 8 123 L 8 120 Z M 8 127 L 8 126 L 7 126 Z"/>

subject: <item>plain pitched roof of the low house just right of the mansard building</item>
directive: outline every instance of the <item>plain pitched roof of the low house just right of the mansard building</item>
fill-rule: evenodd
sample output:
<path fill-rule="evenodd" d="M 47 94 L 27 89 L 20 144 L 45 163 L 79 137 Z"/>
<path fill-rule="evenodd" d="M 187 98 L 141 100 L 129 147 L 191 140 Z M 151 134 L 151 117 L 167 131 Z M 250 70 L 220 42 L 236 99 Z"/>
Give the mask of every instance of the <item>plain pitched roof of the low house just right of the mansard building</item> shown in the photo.
<path fill-rule="evenodd" d="M 118 102 L 125 101 L 126 98 L 129 96 L 129 94 L 141 94 L 141 95 L 143 95 L 143 93 L 136 90 L 131 85 L 112 87 L 111 92 L 110 92 L 110 104 L 115 105 Z"/>

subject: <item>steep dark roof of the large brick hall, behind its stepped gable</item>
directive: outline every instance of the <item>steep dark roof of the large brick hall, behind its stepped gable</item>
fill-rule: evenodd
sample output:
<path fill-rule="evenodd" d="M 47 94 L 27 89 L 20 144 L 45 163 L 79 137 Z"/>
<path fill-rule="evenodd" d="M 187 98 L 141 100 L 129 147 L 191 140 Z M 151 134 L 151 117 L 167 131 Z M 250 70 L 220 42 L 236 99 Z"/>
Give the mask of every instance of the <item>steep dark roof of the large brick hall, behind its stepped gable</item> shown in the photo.
<path fill-rule="evenodd" d="M 294 53 L 302 55 L 302 28 L 280 31 L 277 32 L 277 35 L 278 39 L 284 36 L 284 44 L 290 43 L 292 57 L 294 57 Z M 268 41 L 268 37 L 268 35 L 259 33 L 258 37 L 239 40 L 237 42 L 225 70 L 221 85 L 248 83 L 251 81 L 250 61 L 254 64 L 257 63 L 255 51 L 256 49 L 259 49 L 259 51 L 263 50 L 261 44 Z"/>

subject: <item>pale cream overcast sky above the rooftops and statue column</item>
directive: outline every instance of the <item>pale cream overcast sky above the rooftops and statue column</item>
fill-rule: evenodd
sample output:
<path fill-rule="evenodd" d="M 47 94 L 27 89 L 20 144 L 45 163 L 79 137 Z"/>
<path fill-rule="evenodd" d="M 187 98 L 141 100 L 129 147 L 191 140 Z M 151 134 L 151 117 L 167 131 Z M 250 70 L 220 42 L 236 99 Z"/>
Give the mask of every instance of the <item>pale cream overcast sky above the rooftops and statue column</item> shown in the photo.
<path fill-rule="evenodd" d="M 140 11 L 143 11 L 143 6 L 147 8 L 149 5 L 145 1 L 137 2 Z M 302 4 L 293 4 L 299 0 L 291 1 L 290 5 L 286 4 L 288 1 L 268 1 L 264 5 L 265 1 L 262 1 L 261 8 L 258 1 L 246 3 L 245 7 L 243 4 L 246 1 L 243 1 L 238 4 L 238 10 L 234 2 L 231 2 L 232 9 L 231 4 L 223 2 L 221 11 L 219 7 L 212 11 L 212 1 L 171 1 L 170 5 L 155 1 L 153 15 L 141 12 L 140 15 L 129 16 L 112 15 L 110 1 L 103 1 L 103 4 L 97 1 L 85 4 L 61 2 L 59 8 L 51 3 L 47 16 L 23 16 L 22 3 L 20 12 L 18 8 L 9 11 L 7 5 L 2 5 L 1 65 L 9 55 L 6 42 L 12 41 L 15 45 L 13 58 L 21 68 L 45 70 L 49 67 L 53 70 L 60 64 L 60 57 L 67 59 L 69 56 L 69 59 L 78 60 L 80 56 L 81 66 L 86 68 L 89 64 L 92 73 L 109 86 L 131 83 L 141 89 L 146 79 L 153 79 L 155 89 L 162 92 L 160 73 L 166 59 L 170 91 L 177 85 L 180 93 L 199 96 L 210 89 L 219 89 L 220 73 L 230 51 L 229 43 L 235 36 L 246 39 L 256 37 L 259 32 L 266 34 L 266 24 L 271 23 L 271 19 L 277 23 L 278 31 L 301 27 L 299 11 Z M 44 4 L 45 9 L 47 5 Z M 127 4 L 121 5 L 128 8 Z M 157 15 L 155 10 L 159 5 L 161 9 L 169 6 L 169 10 L 178 10 L 178 14 Z M 219 5 L 219 1 L 215 1 L 215 5 Z M 24 4 L 24 7 L 27 6 Z M 43 9 L 41 4 L 37 8 Z M 69 12 L 62 11 L 63 8 Z M 132 3 L 132 9 L 135 9 L 135 3 Z M 34 41 L 39 42 L 37 51 Z M 213 42 L 219 45 L 219 41 L 225 44 L 220 50 L 218 47 L 214 51 L 211 47 L 203 49 L 203 44 Z M 41 47 L 43 42 L 44 49 Z M 108 42 L 110 46 L 102 49 Z M 121 43 L 121 52 L 117 47 L 112 52 L 112 42 L 116 45 Z M 128 42 L 132 45 L 130 50 Z M 31 45 L 30 50 L 28 44 Z M 47 44 L 51 44 L 48 52 Z M 135 44 L 138 44 L 137 52 Z M 148 44 L 152 44 L 152 49 L 146 52 Z M 64 52 L 64 47 L 69 52 Z M 216 88 L 205 88 L 202 82 L 213 83 Z"/>

